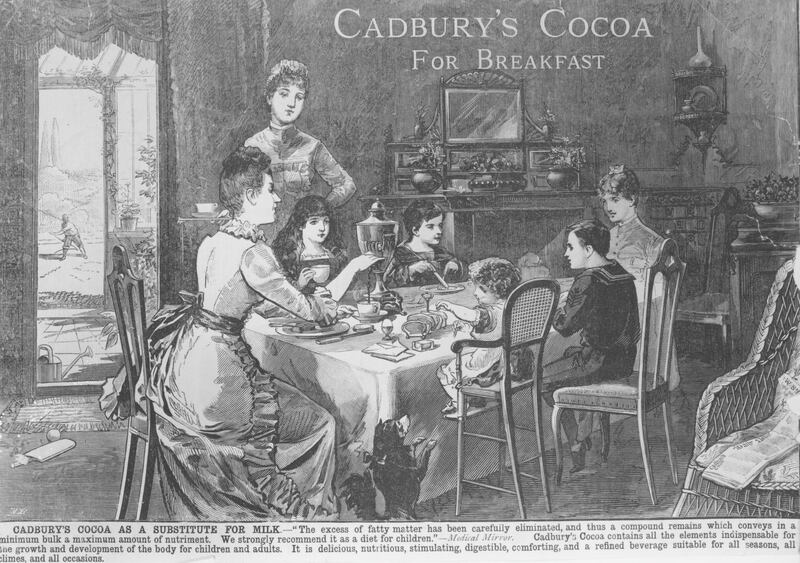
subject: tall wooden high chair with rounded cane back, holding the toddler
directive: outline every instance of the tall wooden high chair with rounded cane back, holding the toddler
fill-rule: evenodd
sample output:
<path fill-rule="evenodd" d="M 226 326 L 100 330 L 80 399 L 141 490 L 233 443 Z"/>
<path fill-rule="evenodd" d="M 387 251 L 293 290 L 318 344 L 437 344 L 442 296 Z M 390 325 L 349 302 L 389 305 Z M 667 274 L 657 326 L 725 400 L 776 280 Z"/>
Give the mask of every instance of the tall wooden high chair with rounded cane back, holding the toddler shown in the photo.
<path fill-rule="evenodd" d="M 559 286 L 552 280 L 530 280 L 523 282 L 511 292 L 503 310 L 503 333 L 498 340 L 457 340 L 452 344 L 452 350 L 456 354 L 456 376 L 461 381 L 461 353 L 466 347 L 473 348 L 503 348 L 504 363 L 501 366 L 499 381 L 489 387 L 478 385 L 464 385 L 459 388 L 458 393 L 458 413 L 448 415 L 447 418 L 458 420 L 458 447 L 457 447 L 457 470 L 458 484 L 456 485 L 456 516 L 461 514 L 461 497 L 464 483 L 470 483 L 479 487 L 492 489 L 495 491 L 516 494 L 519 505 L 519 514 L 525 519 L 525 503 L 522 497 L 522 487 L 520 476 L 530 479 L 541 479 L 542 490 L 544 492 L 545 507 L 547 512 L 550 507 L 550 489 L 547 483 L 547 472 L 544 465 L 544 439 L 542 436 L 542 409 L 540 389 L 542 384 L 542 352 L 544 350 L 547 335 L 553 322 L 556 305 L 558 304 Z M 514 354 L 522 356 L 531 347 L 538 348 L 536 358 L 529 358 L 532 361 L 525 362 L 520 360 L 517 363 L 519 371 L 531 368 L 533 373 L 519 373 L 520 380 L 512 381 L 511 365 Z M 527 378 L 525 378 L 527 376 Z M 533 401 L 533 421 L 534 428 L 515 426 L 514 412 L 512 409 L 512 399 L 516 393 L 529 389 Z M 489 401 L 487 406 L 467 410 L 468 398 L 481 398 Z M 488 411 L 497 409 L 499 428 L 502 437 L 489 436 L 476 432 L 466 431 L 466 421 Z M 515 430 L 527 430 L 533 432 L 536 438 L 537 454 L 530 459 L 519 462 L 517 456 Z M 481 440 L 489 440 L 498 443 L 498 485 L 490 485 L 478 481 L 464 479 L 464 438 L 470 436 Z M 505 471 L 505 450 L 511 458 L 511 473 L 514 479 L 514 490 L 503 488 L 503 472 Z M 539 460 L 540 477 L 520 471 L 520 464 L 528 461 Z"/>

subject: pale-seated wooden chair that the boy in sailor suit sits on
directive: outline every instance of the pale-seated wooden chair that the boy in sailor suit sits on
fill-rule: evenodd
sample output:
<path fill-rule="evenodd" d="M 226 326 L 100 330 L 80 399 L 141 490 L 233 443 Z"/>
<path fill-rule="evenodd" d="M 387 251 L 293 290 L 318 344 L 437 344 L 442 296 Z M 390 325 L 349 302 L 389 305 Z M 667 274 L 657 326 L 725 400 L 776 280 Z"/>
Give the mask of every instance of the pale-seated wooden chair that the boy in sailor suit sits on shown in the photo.
<path fill-rule="evenodd" d="M 561 482 L 563 460 L 561 453 L 561 415 L 564 409 L 599 412 L 602 414 L 603 432 L 602 455 L 608 456 L 610 444 L 611 414 L 635 416 L 639 426 L 639 445 L 642 450 L 647 486 L 650 500 L 656 504 L 656 489 L 650 467 L 650 450 L 647 441 L 647 414 L 661 407 L 664 415 L 664 429 L 667 438 L 672 481 L 678 484 L 675 459 L 672 453 L 672 410 L 669 396 L 669 368 L 672 360 L 672 328 L 686 264 L 678 258 L 678 245 L 672 239 L 661 244 L 656 263 L 647 271 L 644 289 L 644 314 L 642 315 L 642 336 L 639 340 L 639 365 L 627 380 L 627 374 L 620 374 L 620 380 L 606 381 L 580 387 L 562 387 L 553 393 L 553 437 L 556 446 L 556 483 Z M 657 281 L 657 278 L 663 278 Z M 662 295 L 654 295 L 655 287 L 663 288 Z M 655 318 L 657 324 L 653 324 Z M 646 327 L 656 327 L 651 335 Z M 656 338 L 655 357 L 649 354 L 650 338 Z"/>

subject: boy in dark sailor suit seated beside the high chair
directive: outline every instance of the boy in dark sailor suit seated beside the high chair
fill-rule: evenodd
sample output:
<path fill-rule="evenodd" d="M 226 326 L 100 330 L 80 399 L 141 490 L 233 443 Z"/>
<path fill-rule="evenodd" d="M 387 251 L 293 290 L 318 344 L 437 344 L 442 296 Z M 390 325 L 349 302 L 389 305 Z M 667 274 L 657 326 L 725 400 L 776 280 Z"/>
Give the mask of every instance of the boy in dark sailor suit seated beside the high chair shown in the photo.
<path fill-rule="evenodd" d="M 606 258 L 608 229 L 599 221 L 586 220 L 571 225 L 567 232 L 564 255 L 570 267 L 580 272 L 556 311 L 553 328 L 562 336 L 580 331 L 581 339 L 579 346 L 564 352 L 562 360 L 545 367 L 543 398 L 550 406 L 556 389 L 627 378 L 633 371 L 640 335 L 634 277 Z M 572 452 L 571 473 L 585 466 L 591 423 L 591 413 L 563 412 L 561 425 Z"/>

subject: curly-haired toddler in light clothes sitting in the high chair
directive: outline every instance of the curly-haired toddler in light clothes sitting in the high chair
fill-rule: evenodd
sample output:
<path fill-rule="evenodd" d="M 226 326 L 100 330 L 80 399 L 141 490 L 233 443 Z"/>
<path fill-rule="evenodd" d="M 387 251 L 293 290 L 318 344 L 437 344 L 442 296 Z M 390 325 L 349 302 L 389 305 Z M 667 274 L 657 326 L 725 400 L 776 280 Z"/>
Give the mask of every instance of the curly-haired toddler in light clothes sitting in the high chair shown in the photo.
<path fill-rule="evenodd" d="M 497 340 L 503 331 L 503 309 L 511 291 L 520 283 L 519 270 L 508 260 L 486 258 L 469 265 L 469 277 L 474 284 L 474 308 L 456 305 L 450 301 L 436 304 L 438 310 L 450 311 L 456 319 L 471 327 L 470 337 L 476 340 Z M 465 348 L 461 353 L 461 383 L 477 383 L 487 387 L 500 377 L 502 348 Z M 445 414 L 458 411 L 458 389 L 456 383 L 456 362 L 453 360 L 437 371 L 439 381 L 450 402 L 442 409 Z"/>

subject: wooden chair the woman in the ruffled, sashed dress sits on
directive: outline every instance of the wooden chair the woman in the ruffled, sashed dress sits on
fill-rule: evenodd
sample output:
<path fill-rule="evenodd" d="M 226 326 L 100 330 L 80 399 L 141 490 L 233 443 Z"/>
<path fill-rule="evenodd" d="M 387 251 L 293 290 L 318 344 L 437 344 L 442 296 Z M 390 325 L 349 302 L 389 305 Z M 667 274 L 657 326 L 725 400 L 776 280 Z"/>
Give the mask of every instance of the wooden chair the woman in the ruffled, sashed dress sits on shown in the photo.
<path fill-rule="evenodd" d="M 128 510 L 128 502 L 134 481 L 136 452 L 141 441 L 143 444 L 143 462 L 139 485 L 139 499 L 136 505 L 136 520 L 147 518 L 150 504 L 150 492 L 153 486 L 156 457 L 155 416 L 151 412 L 149 401 L 140 404 L 136 400 L 137 385 L 146 388 L 150 374 L 150 359 L 145 338 L 145 298 L 144 283 L 133 275 L 128 254 L 122 246 L 115 246 L 111 251 L 113 269 L 106 276 L 108 287 L 117 316 L 119 340 L 122 344 L 122 355 L 125 360 L 128 399 L 131 414 L 128 417 L 128 437 L 125 444 L 125 461 L 122 467 L 122 483 L 119 490 L 116 519 L 122 520 Z"/>

